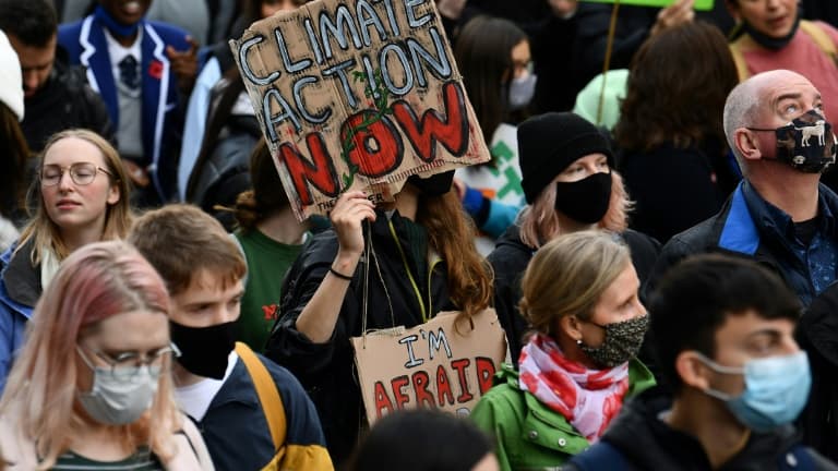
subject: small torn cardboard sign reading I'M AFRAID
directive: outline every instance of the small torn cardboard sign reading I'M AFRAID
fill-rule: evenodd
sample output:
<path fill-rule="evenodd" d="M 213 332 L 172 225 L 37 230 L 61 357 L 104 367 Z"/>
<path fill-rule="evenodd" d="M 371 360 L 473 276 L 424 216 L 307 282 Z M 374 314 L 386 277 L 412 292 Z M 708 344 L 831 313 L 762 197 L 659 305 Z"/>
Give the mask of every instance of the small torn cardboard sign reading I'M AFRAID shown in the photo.
<path fill-rule="evenodd" d="M 351 339 L 361 397 L 370 424 L 398 409 L 440 408 L 468 414 L 492 386 L 506 358 L 506 335 L 494 310 L 472 317 L 438 314 L 410 329 Z"/>

